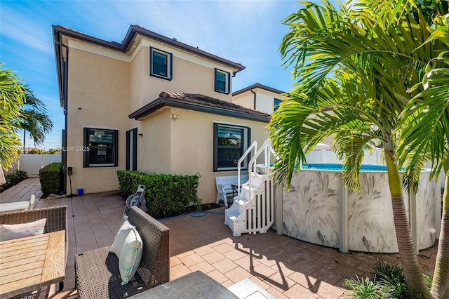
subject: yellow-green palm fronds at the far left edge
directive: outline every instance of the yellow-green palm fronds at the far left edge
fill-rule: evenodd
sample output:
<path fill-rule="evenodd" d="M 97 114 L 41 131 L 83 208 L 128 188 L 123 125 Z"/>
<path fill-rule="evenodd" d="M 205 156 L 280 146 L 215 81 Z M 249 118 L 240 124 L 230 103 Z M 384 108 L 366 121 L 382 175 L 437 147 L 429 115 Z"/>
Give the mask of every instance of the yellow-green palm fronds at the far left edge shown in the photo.
<path fill-rule="evenodd" d="M 3 63 L 0 63 L 0 67 Z M 18 159 L 15 147 L 20 145 L 16 120 L 25 102 L 25 91 L 11 69 L 0 68 L 0 166 L 8 168 Z M 1 171 L 1 170 L 0 170 Z"/>

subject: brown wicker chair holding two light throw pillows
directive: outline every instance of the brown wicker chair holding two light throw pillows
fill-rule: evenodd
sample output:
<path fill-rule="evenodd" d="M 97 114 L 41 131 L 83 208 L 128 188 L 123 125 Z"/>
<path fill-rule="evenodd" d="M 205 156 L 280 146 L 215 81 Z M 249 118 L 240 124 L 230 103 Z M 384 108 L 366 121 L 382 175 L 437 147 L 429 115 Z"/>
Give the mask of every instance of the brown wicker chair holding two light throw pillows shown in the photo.
<path fill-rule="evenodd" d="M 170 279 L 170 230 L 133 206 L 128 221 L 135 225 L 143 242 L 142 260 L 134 277 L 121 286 L 119 259 L 109 246 L 75 255 L 75 284 L 78 298 L 124 298 Z"/>

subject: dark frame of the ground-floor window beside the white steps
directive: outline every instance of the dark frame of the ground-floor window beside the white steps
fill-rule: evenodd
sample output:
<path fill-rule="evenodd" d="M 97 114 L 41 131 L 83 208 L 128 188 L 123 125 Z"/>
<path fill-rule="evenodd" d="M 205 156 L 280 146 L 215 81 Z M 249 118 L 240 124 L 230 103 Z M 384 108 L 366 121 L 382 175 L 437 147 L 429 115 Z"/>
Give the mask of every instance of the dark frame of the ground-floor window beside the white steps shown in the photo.
<path fill-rule="evenodd" d="M 219 172 L 219 171 L 236 171 L 237 165 L 235 167 L 223 167 L 218 165 L 218 128 L 219 127 L 229 127 L 229 128 L 238 128 L 243 130 L 243 138 L 242 141 L 243 147 L 241 148 L 241 153 L 239 156 L 239 159 L 241 155 L 248 149 L 250 146 L 250 140 L 251 140 L 251 128 L 249 126 L 244 125 L 237 125 L 237 124 L 226 124 L 226 123 L 220 123 L 220 122 L 214 122 L 213 123 L 213 171 Z M 243 161 L 243 165 L 241 166 L 241 170 L 246 171 L 248 170 L 248 162 L 250 161 L 250 154 L 248 154 L 248 157 Z"/>

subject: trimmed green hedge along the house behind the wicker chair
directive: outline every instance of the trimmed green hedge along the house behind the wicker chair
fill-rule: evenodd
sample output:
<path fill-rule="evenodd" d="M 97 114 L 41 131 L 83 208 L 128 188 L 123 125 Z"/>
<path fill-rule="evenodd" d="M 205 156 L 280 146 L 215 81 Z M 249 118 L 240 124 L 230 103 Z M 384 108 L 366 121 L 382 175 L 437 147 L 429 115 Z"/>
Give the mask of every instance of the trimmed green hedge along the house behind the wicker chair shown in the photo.
<path fill-rule="evenodd" d="M 196 175 L 148 175 L 138 171 L 117 171 L 119 189 L 128 197 L 138 185 L 145 185 L 148 213 L 154 216 L 182 213 L 190 205 L 199 207 L 196 194 L 199 177 Z"/>

